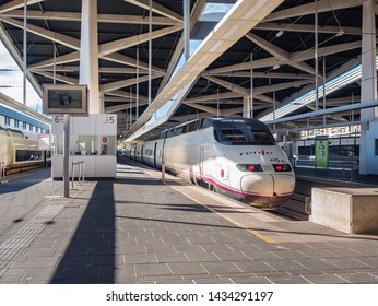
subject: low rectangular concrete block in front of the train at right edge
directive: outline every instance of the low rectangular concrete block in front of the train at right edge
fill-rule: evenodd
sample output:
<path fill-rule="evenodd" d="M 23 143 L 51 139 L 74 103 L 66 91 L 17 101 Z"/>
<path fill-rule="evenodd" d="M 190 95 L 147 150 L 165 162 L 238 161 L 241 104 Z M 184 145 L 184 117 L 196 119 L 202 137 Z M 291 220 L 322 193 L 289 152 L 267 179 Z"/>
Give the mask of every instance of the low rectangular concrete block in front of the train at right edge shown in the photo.
<path fill-rule="evenodd" d="M 378 234 L 378 188 L 312 188 L 309 221 L 347 234 Z"/>

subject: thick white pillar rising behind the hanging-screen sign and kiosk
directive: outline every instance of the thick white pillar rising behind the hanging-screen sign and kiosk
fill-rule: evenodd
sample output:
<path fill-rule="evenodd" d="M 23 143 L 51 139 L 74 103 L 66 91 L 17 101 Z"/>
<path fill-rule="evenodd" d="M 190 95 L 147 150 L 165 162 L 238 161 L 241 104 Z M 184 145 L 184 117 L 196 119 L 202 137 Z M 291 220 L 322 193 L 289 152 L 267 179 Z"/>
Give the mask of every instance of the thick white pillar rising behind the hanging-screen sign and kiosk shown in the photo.
<path fill-rule="evenodd" d="M 88 86 L 88 113 L 101 114 L 102 106 L 98 93 L 97 0 L 82 0 L 80 49 L 79 83 Z"/>

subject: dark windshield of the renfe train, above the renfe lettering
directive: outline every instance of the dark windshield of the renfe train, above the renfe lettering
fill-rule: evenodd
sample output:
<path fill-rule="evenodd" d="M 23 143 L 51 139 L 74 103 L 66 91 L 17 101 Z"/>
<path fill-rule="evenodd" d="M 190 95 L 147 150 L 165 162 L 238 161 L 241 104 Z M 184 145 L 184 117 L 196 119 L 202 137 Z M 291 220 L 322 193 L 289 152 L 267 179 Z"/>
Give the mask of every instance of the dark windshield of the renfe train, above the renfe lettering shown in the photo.
<path fill-rule="evenodd" d="M 272 145 L 275 144 L 274 138 L 265 126 L 253 125 L 225 125 L 214 126 L 215 140 L 227 145 Z"/>

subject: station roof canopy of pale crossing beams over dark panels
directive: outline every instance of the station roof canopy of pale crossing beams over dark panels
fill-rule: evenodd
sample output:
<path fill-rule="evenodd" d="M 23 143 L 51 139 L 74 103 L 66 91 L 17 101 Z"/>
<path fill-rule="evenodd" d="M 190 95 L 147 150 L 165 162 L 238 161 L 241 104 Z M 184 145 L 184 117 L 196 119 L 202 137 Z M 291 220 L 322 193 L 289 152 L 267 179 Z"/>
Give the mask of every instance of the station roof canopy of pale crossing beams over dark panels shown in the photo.
<path fill-rule="evenodd" d="M 0 37 L 20 67 L 25 2 L 28 80 L 39 94 L 42 84 L 79 84 L 82 1 L 0 0 Z M 105 113 L 118 114 L 119 138 L 146 140 L 191 119 L 243 116 L 246 99 L 267 122 L 361 102 L 361 76 L 349 73 L 361 64 L 363 0 L 190 0 L 187 60 L 184 4 L 97 1 L 99 92 Z M 316 84 L 342 76 L 324 97 L 322 90 L 308 97 Z M 358 120 L 356 109 L 274 128 Z"/>

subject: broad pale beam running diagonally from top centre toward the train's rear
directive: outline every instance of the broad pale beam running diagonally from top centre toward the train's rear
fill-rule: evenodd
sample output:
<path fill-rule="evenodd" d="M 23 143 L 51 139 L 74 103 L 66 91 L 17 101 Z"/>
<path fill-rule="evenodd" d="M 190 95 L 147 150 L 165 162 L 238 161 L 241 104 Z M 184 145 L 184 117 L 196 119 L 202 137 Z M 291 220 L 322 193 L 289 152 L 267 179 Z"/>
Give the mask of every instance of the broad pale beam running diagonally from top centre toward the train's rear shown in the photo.
<path fill-rule="evenodd" d="M 282 2 L 283 0 L 271 0 L 268 2 L 238 0 L 202 42 L 196 52 L 172 78 L 170 82 L 155 97 L 147 109 L 139 117 L 138 121 L 129 130 L 128 137 L 131 137 L 132 133 L 142 128 L 157 109 L 184 90 L 187 84 L 191 84 L 209 64 L 214 62 Z"/>

